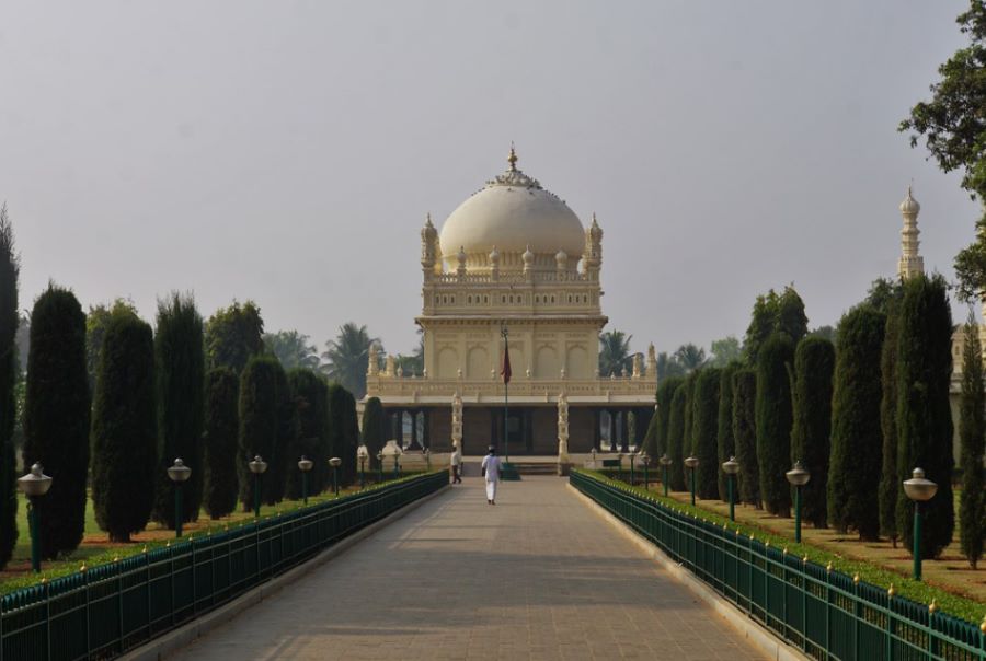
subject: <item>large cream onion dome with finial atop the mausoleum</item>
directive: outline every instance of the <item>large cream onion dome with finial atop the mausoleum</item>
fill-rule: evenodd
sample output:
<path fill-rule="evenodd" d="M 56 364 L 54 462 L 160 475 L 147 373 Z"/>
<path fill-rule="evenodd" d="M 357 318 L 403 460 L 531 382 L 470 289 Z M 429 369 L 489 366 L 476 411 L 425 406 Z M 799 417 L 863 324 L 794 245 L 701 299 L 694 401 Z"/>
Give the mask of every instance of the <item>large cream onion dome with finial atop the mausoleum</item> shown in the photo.
<path fill-rule="evenodd" d="M 511 167 L 451 212 L 442 227 L 439 245 L 446 259 L 455 259 L 465 248 L 470 266 L 485 266 L 496 246 L 505 268 L 519 266 L 528 246 L 539 267 L 555 265 L 555 254 L 564 251 L 574 268 L 585 248 L 585 230 L 578 217 L 552 193 Z"/>

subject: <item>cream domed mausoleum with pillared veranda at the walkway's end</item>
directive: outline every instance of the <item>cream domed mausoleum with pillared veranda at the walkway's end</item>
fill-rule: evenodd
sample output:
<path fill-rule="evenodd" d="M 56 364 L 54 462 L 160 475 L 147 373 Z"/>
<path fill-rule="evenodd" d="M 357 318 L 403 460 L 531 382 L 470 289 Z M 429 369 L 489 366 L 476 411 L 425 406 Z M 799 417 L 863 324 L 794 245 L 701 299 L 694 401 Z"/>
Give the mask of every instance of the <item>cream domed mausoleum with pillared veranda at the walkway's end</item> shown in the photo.
<path fill-rule="evenodd" d="M 465 454 L 503 451 L 504 332 L 511 455 L 587 453 L 605 437 L 626 451 L 629 416 L 642 440 L 654 411 L 657 364 L 599 374 L 603 230 L 588 228 L 557 195 L 509 167 L 449 214 L 440 231 L 421 231 L 424 370 L 404 374 L 371 347 L 367 397 L 379 397 L 391 438 L 410 448 Z M 403 439 L 410 415 L 411 439 Z"/>

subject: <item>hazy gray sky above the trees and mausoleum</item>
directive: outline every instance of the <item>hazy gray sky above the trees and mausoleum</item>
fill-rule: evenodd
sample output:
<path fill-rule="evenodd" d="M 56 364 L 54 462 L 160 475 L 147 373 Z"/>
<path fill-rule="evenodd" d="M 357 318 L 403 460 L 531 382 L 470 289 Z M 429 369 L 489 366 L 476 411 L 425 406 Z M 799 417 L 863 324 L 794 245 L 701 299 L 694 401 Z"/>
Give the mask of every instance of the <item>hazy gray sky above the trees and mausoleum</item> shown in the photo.
<path fill-rule="evenodd" d="M 519 166 L 606 232 L 610 328 L 742 336 L 794 282 L 812 326 L 893 276 L 914 178 L 952 277 L 976 205 L 897 123 L 966 3 L 32 2 L 0 5 L 0 199 L 22 306 L 194 290 L 320 349 L 415 344 L 419 230 Z M 955 308 L 956 321 L 964 318 Z"/>

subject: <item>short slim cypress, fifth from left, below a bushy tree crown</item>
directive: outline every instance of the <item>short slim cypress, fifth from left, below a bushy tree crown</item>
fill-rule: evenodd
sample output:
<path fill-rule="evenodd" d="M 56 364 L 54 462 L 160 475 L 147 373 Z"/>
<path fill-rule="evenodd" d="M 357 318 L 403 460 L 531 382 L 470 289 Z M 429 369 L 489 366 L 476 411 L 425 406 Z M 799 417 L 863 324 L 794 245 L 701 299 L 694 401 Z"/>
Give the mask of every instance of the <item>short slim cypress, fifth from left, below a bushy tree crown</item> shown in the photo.
<path fill-rule="evenodd" d="M 240 380 L 229 368 L 215 368 L 205 385 L 205 469 L 203 505 L 213 519 L 237 509 L 237 438 Z"/>

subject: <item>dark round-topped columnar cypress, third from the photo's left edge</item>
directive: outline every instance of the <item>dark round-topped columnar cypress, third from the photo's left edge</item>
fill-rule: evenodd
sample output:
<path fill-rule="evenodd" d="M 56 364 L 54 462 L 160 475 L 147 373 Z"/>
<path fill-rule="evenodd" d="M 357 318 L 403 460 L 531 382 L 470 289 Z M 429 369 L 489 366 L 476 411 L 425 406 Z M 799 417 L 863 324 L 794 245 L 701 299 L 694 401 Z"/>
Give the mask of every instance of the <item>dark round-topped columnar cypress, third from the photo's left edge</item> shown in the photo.
<path fill-rule="evenodd" d="M 92 413 L 92 500 L 111 542 L 129 542 L 150 520 L 156 434 L 153 333 L 134 314 L 115 314 L 103 337 Z"/>

